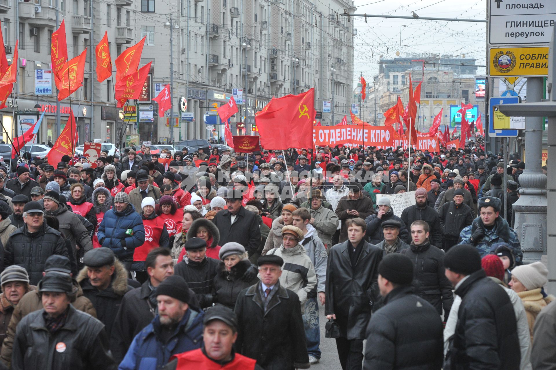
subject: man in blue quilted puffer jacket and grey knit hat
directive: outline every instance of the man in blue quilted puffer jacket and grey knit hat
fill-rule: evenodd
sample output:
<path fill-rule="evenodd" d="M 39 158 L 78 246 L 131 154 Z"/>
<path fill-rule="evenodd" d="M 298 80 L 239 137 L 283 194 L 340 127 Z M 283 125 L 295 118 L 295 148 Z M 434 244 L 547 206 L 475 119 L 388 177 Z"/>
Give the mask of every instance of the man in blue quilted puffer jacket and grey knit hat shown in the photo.
<path fill-rule="evenodd" d="M 125 191 L 116 194 L 114 208 L 106 211 L 98 226 L 98 243 L 112 249 L 127 271 L 131 269 L 135 248 L 145 243 L 145 228 Z"/>

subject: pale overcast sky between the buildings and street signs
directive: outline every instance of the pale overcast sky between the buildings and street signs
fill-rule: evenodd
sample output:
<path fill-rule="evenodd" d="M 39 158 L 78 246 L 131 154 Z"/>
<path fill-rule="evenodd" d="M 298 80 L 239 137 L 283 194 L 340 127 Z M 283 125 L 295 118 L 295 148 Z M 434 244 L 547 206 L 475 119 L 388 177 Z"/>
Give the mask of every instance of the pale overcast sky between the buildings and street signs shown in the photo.
<path fill-rule="evenodd" d="M 485 19 L 491 0 L 356 0 L 358 14 Z M 352 18 L 354 36 L 354 81 L 363 73 L 366 81 L 378 74 L 378 61 L 414 53 L 438 53 L 475 58 L 486 63 L 486 23 L 418 21 L 393 18 Z M 401 33 L 400 33 L 401 30 Z M 400 40 L 401 36 L 401 40 Z M 479 68 L 478 74 L 484 74 Z M 356 85 L 355 85 L 356 86 Z"/>

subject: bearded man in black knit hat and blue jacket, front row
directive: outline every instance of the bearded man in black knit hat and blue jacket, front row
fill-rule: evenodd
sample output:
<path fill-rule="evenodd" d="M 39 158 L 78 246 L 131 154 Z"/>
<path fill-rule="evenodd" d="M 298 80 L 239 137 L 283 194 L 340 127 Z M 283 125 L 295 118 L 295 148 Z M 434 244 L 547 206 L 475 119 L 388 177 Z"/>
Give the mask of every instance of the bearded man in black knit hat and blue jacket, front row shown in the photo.
<path fill-rule="evenodd" d="M 188 305 L 191 298 L 181 276 L 158 284 L 158 314 L 135 336 L 118 370 L 160 369 L 173 355 L 201 348 L 205 313 Z"/>

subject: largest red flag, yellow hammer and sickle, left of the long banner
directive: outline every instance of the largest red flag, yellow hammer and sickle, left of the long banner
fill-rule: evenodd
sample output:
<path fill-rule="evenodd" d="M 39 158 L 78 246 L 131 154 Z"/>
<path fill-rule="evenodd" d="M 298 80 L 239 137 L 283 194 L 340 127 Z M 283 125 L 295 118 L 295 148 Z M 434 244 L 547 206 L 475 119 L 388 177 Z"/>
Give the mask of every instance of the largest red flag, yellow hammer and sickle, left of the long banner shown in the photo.
<path fill-rule="evenodd" d="M 312 117 L 315 117 L 314 88 L 299 95 L 272 98 L 255 115 L 261 145 L 267 150 L 312 147 Z"/>

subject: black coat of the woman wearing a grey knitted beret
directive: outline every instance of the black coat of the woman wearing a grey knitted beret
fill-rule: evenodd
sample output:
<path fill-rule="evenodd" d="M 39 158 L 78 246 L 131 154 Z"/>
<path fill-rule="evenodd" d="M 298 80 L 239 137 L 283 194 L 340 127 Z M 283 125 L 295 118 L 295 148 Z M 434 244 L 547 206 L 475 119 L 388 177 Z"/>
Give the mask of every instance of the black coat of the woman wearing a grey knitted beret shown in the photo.
<path fill-rule="evenodd" d="M 241 290 L 251 287 L 251 285 L 259 282 L 259 278 L 255 277 L 250 280 L 242 279 L 245 272 L 251 268 L 251 262 L 243 259 L 228 271 L 224 262 L 218 264 L 218 273 L 214 277 L 214 300 L 215 303 L 225 305 L 234 309 L 237 296 Z"/>

